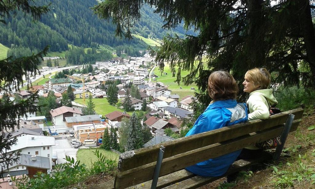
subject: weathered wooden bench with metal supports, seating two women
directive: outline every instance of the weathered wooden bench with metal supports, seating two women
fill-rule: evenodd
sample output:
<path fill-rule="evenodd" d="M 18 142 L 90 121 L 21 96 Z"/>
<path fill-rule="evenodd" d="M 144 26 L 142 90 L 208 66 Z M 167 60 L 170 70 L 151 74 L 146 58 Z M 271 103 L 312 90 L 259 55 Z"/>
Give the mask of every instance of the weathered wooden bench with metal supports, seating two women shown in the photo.
<path fill-rule="evenodd" d="M 288 133 L 297 129 L 302 114 L 303 109 L 298 108 L 272 115 L 267 120 L 239 123 L 125 152 L 119 157 L 119 172 L 115 180 L 110 180 L 101 187 L 197 188 L 246 169 L 253 163 L 262 162 L 265 157 L 235 161 L 227 173 L 220 177 L 194 175 L 186 171 L 185 167 L 281 135 L 282 145 L 279 145 L 274 153 L 274 159 L 278 159 Z"/>

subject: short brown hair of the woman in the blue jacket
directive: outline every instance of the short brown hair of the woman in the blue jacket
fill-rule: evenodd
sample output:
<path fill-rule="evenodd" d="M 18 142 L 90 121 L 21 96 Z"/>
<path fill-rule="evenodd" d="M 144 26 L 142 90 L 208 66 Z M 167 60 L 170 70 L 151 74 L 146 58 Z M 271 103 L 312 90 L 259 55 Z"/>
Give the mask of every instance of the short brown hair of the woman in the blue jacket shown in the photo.
<path fill-rule="evenodd" d="M 208 93 L 213 100 L 236 99 L 238 85 L 229 72 L 215 71 L 208 79 Z"/>

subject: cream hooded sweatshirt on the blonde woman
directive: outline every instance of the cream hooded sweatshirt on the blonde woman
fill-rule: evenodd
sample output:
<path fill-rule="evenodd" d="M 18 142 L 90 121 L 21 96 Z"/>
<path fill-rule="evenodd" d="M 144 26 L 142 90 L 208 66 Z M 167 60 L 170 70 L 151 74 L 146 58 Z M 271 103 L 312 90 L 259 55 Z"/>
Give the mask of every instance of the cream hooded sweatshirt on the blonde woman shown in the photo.
<path fill-rule="evenodd" d="M 278 104 L 278 101 L 273 96 L 272 89 L 261 89 L 251 92 L 246 103 L 249 109 L 248 120 L 251 121 L 255 119 L 268 119 L 269 107 Z M 249 150 L 259 149 L 255 145 L 246 148 Z"/>

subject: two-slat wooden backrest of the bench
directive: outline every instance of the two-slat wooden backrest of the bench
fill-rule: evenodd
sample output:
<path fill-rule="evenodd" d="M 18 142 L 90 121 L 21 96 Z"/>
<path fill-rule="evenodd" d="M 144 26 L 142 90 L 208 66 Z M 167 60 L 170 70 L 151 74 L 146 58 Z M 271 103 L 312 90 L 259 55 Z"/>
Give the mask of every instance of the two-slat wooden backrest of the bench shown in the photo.
<path fill-rule="evenodd" d="M 165 150 L 160 176 L 279 136 L 289 114 L 295 115 L 295 121 L 290 130 L 292 132 L 296 130 L 299 124 L 298 119 L 302 117 L 302 108 L 272 115 L 267 120 L 239 123 L 125 152 L 119 157 L 118 169 L 120 172 L 116 175 L 114 187 L 125 188 L 152 180 L 158 152 L 162 147 L 165 147 Z"/>

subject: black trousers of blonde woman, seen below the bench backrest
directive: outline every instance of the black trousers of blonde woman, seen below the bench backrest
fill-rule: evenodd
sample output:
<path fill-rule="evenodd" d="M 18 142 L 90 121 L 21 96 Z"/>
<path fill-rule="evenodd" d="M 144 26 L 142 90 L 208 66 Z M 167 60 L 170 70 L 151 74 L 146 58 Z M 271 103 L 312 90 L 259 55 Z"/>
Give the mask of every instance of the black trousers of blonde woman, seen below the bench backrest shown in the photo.
<path fill-rule="evenodd" d="M 246 148 L 243 148 L 242 152 L 239 154 L 239 156 L 236 158 L 236 161 L 239 159 L 256 159 L 261 156 L 266 156 L 266 157 L 272 157 L 272 155 L 264 150 L 258 149 L 258 150 L 249 150 Z M 252 166 L 251 170 L 252 171 L 257 171 L 261 169 L 261 166 Z M 235 181 L 238 176 L 238 173 L 232 173 L 231 175 L 227 175 L 227 182 L 232 182 Z"/>

